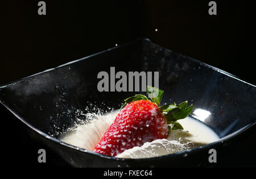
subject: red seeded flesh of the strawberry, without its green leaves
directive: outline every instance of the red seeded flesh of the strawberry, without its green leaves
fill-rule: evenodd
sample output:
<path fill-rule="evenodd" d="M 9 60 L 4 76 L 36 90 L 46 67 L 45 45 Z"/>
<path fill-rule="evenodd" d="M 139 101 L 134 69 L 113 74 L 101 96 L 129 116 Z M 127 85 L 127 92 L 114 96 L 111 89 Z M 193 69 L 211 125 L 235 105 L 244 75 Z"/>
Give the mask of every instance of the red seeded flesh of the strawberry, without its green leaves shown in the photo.
<path fill-rule="evenodd" d="M 147 141 L 167 138 L 168 126 L 158 106 L 148 100 L 129 103 L 117 115 L 94 152 L 116 156 Z"/>

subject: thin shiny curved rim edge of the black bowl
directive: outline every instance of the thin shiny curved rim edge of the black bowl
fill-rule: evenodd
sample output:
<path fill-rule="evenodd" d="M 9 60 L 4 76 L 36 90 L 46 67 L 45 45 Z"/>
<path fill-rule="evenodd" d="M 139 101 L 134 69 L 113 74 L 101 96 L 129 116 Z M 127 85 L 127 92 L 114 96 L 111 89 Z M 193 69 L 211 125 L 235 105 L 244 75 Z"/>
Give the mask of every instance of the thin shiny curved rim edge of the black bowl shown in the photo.
<path fill-rule="evenodd" d="M 36 76 L 39 76 L 40 74 L 43 74 L 43 73 L 47 73 L 47 72 L 51 72 L 57 68 L 61 68 L 63 66 L 68 66 L 70 64 L 73 64 L 73 63 L 77 63 L 81 60 L 85 60 L 85 59 L 89 59 L 90 57 L 93 57 L 93 56 L 97 56 L 97 55 L 100 55 L 102 53 L 106 53 L 108 51 L 112 51 L 114 49 L 118 49 L 120 47 L 124 47 L 126 45 L 129 45 L 129 44 L 133 44 L 133 43 L 137 43 L 137 41 L 148 41 L 154 45 L 158 45 L 158 44 L 155 44 L 153 43 L 150 39 L 147 39 L 147 38 L 139 38 L 139 39 L 136 39 L 136 40 L 133 40 L 133 41 L 130 41 L 128 43 L 123 43 L 123 44 L 120 44 L 118 45 L 117 47 L 112 47 L 112 48 L 108 48 L 104 51 L 101 51 L 101 52 L 97 52 L 97 53 L 94 53 L 92 55 L 89 55 L 89 56 L 85 56 L 85 57 L 82 57 L 81 59 L 77 59 L 77 60 L 73 60 L 73 61 L 70 61 L 68 63 L 65 63 L 65 64 L 62 64 L 62 65 L 59 65 L 59 66 L 56 66 L 55 68 L 50 68 L 50 69 L 47 69 L 47 70 L 44 70 L 42 72 L 39 72 L 39 73 L 35 73 L 35 74 L 32 74 L 31 76 L 27 76 L 27 77 L 24 77 L 24 78 L 20 78 L 19 80 L 15 80 L 13 82 L 9 82 L 5 85 L 2 85 L 0 86 L 0 91 L 1 89 L 3 88 L 6 88 L 7 86 L 9 85 L 15 85 L 17 82 L 21 82 L 21 81 L 24 81 L 24 80 L 27 80 L 28 78 L 34 78 Z M 158 45 L 160 46 L 160 45 Z M 161 47 L 161 46 L 160 46 Z M 167 48 L 164 48 L 166 49 L 167 51 L 170 51 L 170 52 L 174 52 L 174 51 L 171 51 L 170 49 L 167 49 Z M 176 53 L 176 52 L 174 52 Z M 255 85 L 253 84 L 250 84 L 249 82 L 246 82 L 246 81 L 243 81 L 241 80 L 239 77 L 237 76 L 234 76 L 233 74 L 230 74 L 228 72 L 225 72 L 224 70 L 221 70 L 221 69 L 218 69 L 212 65 L 208 65 L 208 64 L 205 64 L 199 60 L 196 60 L 196 59 L 193 59 L 192 57 L 189 57 L 187 55 L 183 55 L 183 54 L 180 54 L 180 53 L 177 53 L 183 57 L 185 57 L 186 59 L 188 60 L 191 60 L 199 65 L 203 65 L 203 66 L 206 66 L 212 70 L 216 70 L 217 72 L 219 73 L 222 73 L 226 76 L 229 76 L 229 77 L 232 77 L 234 78 L 235 80 L 238 80 L 240 82 L 243 82 L 247 85 L 250 85 L 250 86 L 253 86 L 254 88 L 256 87 Z M 84 149 L 84 148 L 81 148 L 81 147 L 77 147 L 75 145 L 71 145 L 71 144 L 68 144 L 68 143 L 65 143 L 59 139 L 56 139 L 56 138 L 53 138 L 51 135 L 48 135 L 46 133 L 44 133 L 43 131 L 40 131 L 38 128 L 32 126 L 30 123 L 26 122 L 26 120 L 24 120 L 20 115 L 18 115 L 17 113 L 15 113 L 15 111 L 13 109 L 11 109 L 9 106 L 7 106 L 5 104 L 5 102 L 3 102 L 0 98 L 0 103 L 6 107 L 7 110 L 9 110 L 11 113 L 13 113 L 13 115 L 16 116 L 16 118 L 18 118 L 19 120 L 21 120 L 24 124 L 26 124 L 26 126 L 30 127 L 32 130 L 34 130 L 35 132 L 37 132 L 39 135 L 43 136 L 44 138 L 47 138 L 49 140 L 52 140 L 53 142 L 56 142 L 56 143 L 59 143 L 60 145 L 63 145 L 64 147 L 68 147 L 68 148 L 71 148 L 71 149 L 75 149 L 76 151 L 79 151 L 79 152 L 83 152 L 83 153 L 88 153 L 89 155 L 96 155 L 96 156 L 99 156 L 99 157 L 103 157 L 105 159 L 110 159 L 110 160 L 115 160 L 115 161 L 124 161 L 124 162 L 129 162 L 129 161 L 148 161 L 148 160 L 160 160 L 160 159 L 163 159 L 163 158 L 170 158 L 170 157 L 179 157 L 179 156 L 184 156 L 188 153 L 192 153 L 194 152 L 195 150 L 196 151 L 199 151 L 200 149 L 205 149 L 205 148 L 209 148 L 209 147 L 213 147 L 214 145 L 216 144 L 220 144 L 220 143 L 224 143 L 226 140 L 229 140 L 229 139 L 232 139 L 234 137 L 236 137 L 237 135 L 241 134 L 242 132 L 246 131 L 247 129 L 249 129 L 250 127 L 254 126 L 254 124 L 256 123 L 256 119 L 254 120 L 254 122 L 251 122 L 249 124 L 246 124 L 245 126 L 243 126 L 242 128 L 240 128 L 239 130 L 233 132 L 232 134 L 229 134 L 227 136 L 225 136 L 224 138 L 220 138 L 219 140 L 217 141 L 214 141 L 213 143 L 209 143 L 207 145 L 203 145 L 203 146 L 200 146 L 200 147 L 196 147 L 196 148 L 191 148 L 191 149 L 187 149 L 185 151 L 181 151 L 181 152 L 176 152 L 176 153 L 172 153 L 172 154 L 168 154 L 168 155 L 163 155 L 163 156 L 157 156 L 157 157 L 148 157 L 148 158 L 139 158 L 139 159 L 126 159 L 126 158 L 118 158 L 118 157 L 112 157 L 112 156 L 107 156 L 107 155 L 103 155 L 101 153 L 97 153 L 97 152 L 93 152 L 93 151 L 90 151 L 88 149 Z"/>

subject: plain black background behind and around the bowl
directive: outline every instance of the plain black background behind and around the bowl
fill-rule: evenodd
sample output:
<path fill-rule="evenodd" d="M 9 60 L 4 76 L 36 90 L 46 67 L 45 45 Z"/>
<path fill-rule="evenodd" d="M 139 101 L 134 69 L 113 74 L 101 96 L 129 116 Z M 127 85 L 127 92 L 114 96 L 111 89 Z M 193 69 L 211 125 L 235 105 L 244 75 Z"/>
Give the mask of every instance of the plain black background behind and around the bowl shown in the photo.
<path fill-rule="evenodd" d="M 216 1 L 212 16 L 210 1 L 45 1 L 47 15 L 41 16 L 38 2 L 1 2 L 0 85 L 141 37 L 256 84 L 255 10 L 249 1 Z M 6 139 L 5 162 L 16 159 L 10 145 L 23 145 L 15 162 L 38 165 L 40 146 L 18 132 L 19 123 L 2 107 L 1 114 L 22 134 L 16 142 Z M 219 166 L 255 166 L 255 154 L 249 155 L 255 127 L 247 132 L 251 138 L 233 151 L 237 157 L 231 153 Z"/>

